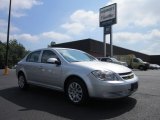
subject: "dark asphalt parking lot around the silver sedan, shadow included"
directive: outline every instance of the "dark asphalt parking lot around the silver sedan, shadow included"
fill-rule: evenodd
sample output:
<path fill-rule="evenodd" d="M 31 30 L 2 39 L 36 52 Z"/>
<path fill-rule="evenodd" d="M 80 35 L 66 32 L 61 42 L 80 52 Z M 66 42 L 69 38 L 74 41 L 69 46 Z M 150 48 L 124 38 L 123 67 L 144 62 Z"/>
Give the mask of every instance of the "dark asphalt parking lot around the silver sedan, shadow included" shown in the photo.
<path fill-rule="evenodd" d="M 160 120 L 160 70 L 134 72 L 139 89 L 129 98 L 75 106 L 54 90 L 31 86 L 22 91 L 15 70 L 7 76 L 0 70 L 0 120 Z"/>

